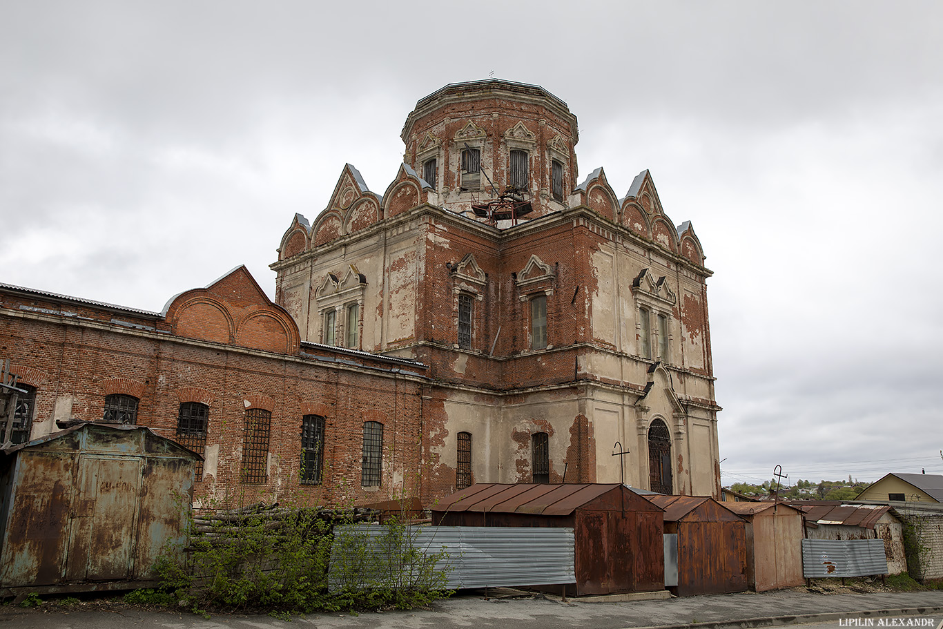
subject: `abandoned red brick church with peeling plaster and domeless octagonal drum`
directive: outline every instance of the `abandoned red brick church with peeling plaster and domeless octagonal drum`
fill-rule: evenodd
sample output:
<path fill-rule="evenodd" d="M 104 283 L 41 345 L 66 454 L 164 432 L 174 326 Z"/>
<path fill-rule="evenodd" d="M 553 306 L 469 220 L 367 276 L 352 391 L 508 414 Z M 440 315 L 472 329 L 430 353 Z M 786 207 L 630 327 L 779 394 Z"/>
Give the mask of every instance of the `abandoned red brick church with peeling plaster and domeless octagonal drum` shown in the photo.
<path fill-rule="evenodd" d="M 382 195 L 347 164 L 291 220 L 275 303 L 242 267 L 159 313 L 0 285 L 9 440 L 147 425 L 205 457 L 198 504 L 718 496 L 711 272 L 651 174 L 621 197 L 603 169 L 578 182 L 567 105 L 498 79 L 422 98 L 402 138 Z"/>

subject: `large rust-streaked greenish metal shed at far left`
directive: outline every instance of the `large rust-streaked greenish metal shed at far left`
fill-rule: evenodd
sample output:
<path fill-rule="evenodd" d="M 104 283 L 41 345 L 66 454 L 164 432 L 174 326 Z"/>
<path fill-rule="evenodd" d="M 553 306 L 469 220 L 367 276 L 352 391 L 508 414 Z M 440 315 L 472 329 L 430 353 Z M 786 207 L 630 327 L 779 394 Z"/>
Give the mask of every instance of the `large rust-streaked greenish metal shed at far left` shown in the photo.
<path fill-rule="evenodd" d="M 83 423 L 0 455 L 0 593 L 137 587 L 182 541 L 200 456 L 149 428 Z"/>

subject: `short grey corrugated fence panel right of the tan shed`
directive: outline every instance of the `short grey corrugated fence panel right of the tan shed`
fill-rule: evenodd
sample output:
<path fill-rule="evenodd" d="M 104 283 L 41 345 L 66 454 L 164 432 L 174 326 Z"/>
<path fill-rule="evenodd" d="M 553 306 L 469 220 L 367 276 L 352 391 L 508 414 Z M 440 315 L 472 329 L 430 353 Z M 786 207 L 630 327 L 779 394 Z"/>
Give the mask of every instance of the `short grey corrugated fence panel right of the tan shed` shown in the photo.
<path fill-rule="evenodd" d="M 886 574 L 884 539 L 802 539 L 802 576 Z"/>

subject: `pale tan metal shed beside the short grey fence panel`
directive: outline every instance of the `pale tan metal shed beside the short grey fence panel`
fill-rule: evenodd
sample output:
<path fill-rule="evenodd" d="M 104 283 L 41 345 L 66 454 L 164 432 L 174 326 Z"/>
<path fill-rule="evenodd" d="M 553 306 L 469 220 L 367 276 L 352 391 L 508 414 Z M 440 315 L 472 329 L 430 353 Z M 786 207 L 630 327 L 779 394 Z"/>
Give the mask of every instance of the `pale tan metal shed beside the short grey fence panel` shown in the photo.
<path fill-rule="evenodd" d="M 747 522 L 750 589 L 797 588 L 802 578 L 802 511 L 772 501 L 721 503 Z"/>

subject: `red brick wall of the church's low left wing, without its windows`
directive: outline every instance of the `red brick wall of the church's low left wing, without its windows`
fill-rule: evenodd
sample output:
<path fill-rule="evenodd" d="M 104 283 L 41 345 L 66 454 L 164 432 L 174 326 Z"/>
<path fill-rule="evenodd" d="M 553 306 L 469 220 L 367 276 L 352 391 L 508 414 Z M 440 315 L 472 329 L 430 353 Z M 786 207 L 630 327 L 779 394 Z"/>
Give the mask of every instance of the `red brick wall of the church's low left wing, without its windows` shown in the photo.
<path fill-rule="evenodd" d="M 174 439 L 181 401 L 199 401 L 209 406 L 207 448 L 219 447 L 215 477 L 196 486 L 196 497 L 204 504 L 362 504 L 421 492 L 420 384 L 416 378 L 390 373 L 389 365 L 342 369 L 313 358 L 195 342 L 93 320 L 43 313 L 20 316 L 19 306 L 27 302 L 45 310 L 57 306 L 9 294 L 0 297 L 0 356 L 11 360 L 12 372 L 31 374 L 30 384 L 38 387 L 34 426 L 53 416 L 59 396 L 72 398 L 73 418 L 100 421 L 105 395 L 123 392 L 140 397 L 140 425 Z M 262 485 L 240 482 L 247 406 L 272 410 L 272 465 Z M 326 420 L 320 486 L 298 480 L 301 418 L 312 410 Z M 365 418 L 386 418 L 379 420 L 384 423 L 384 453 L 377 491 L 360 487 Z"/>

